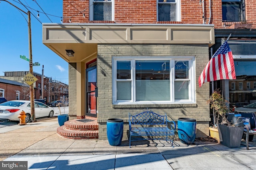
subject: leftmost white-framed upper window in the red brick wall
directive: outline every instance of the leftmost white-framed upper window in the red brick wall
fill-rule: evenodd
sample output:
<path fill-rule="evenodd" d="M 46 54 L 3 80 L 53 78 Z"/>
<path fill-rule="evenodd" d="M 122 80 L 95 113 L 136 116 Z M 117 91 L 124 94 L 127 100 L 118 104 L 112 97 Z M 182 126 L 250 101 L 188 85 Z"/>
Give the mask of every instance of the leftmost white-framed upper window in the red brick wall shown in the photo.
<path fill-rule="evenodd" d="M 114 0 L 90 0 L 91 21 L 113 21 Z"/>

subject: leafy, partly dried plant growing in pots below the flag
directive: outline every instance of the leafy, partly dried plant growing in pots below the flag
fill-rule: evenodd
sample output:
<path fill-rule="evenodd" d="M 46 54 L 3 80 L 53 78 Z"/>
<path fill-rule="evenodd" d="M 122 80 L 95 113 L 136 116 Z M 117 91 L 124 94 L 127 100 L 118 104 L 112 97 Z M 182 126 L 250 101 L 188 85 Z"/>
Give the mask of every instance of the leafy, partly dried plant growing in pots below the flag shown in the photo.
<path fill-rule="evenodd" d="M 213 111 L 213 124 L 214 127 L 217 126 L 217 123 L 219 123 L 221 118 L 221 125 L 228 125 L 232 126 L 232 124 L 227 120 L 226 113 L 228 113 L 228 107 L 224 97 L 220 94 L 220 90 L 215 90 L 212 95 L 210 96 L 210 99 L 206 101 L 207 104 L 210 104 L 210 108 Z"/>

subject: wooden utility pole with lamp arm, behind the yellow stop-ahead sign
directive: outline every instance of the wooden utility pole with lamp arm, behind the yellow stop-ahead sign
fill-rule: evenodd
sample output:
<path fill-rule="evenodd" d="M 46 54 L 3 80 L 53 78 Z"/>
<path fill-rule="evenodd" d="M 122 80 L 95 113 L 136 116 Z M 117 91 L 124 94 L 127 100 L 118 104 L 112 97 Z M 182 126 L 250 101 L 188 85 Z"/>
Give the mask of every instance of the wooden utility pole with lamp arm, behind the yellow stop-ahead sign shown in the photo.
<path fill-rule="evenodd" d="M 7 0 L 0 0 L 0 1 L 5 1 L 8 2 Z M 25 13 L 28 15 L 28 53 L 29 53 L 29 72 L 33 74 L 33 62 L 32 62 L 32 42 L 31 42 L 31 22 L 30 22 L 30 11 L 25 12 L 22 9 L 18 8 L 14 4 L 8 2 L 21 12 Z M 31 120 L 33 122 L 36 121 L 35 117 L 35 100 L 34 100 L 34 85 L 30 85 L 30 109 L 31 109 Z"/>

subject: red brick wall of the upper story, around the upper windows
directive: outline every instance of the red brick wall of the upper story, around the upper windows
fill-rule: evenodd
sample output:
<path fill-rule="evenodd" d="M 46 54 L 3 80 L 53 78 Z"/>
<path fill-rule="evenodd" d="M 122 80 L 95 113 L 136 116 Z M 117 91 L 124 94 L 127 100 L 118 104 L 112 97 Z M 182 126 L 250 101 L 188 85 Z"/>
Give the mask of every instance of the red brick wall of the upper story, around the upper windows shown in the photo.
<path fill-rule="evenodd" d="M 199 0 L 181 0 L 180 22 L 157 22 L 156 0 L 115 0 L 114 21 L 89 21 L 89 0 L 63 0 L 63 23 L 137 23 L 137 24 L 203 24 L 202 4 Z M 246 21 L 249 24 L 256 22 L 256 1 L 246 0 Z M 210 16 L 211 11 L 211 16 Z M 83 14 L 85 18 L 83 18 Z M 223 27 L 222 0 L 204 0 L 205 24 L 214 24 L 215 28 Z M 226 22 L 232 25 L 240 22 Z M 252 26 L 252 28 L 255 26 Z"/>

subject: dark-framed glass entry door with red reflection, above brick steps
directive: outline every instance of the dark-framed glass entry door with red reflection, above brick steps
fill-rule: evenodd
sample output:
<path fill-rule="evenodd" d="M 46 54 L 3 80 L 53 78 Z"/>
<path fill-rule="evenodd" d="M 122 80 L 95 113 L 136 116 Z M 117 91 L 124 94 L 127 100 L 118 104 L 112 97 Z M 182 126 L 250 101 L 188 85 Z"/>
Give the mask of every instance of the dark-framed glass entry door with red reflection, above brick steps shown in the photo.
<path fill-rule="evenodd" d="M 95 90 L 97 85 L 96 66 L 86 69 L 86 115 L 97 117 Z"/>

